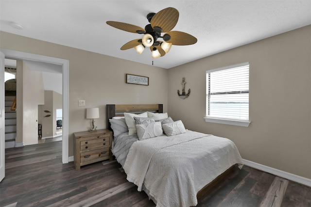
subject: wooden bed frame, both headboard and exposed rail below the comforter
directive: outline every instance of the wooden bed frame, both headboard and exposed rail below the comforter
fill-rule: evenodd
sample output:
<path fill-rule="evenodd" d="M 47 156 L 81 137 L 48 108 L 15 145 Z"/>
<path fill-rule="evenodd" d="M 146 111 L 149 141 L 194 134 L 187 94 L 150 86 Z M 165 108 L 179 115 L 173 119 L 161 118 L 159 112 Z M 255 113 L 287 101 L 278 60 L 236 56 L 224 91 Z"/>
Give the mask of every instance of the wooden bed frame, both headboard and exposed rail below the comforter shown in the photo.
<path fill-rule="evenodd" d="M 107 128 L 112 131 L 109 119 L 114 116 L 123 116 L 124 112 L 131 113 L 142 113 L 145 111 L 158 112 L 163 113 L 163 104 L 137 104 L 137 105 L 115 105 L 115 104 L 107 104 Z M 207 192 L 211 191 L 215 188 L 219 183 L 225 180 L 229 175 L 234 173 L 235 165 L 231 166 L 228 170 L 226 170 L 223 174 L 216 177 L 212 182 L 207 184 L 197 193 L 198 202 L 202 200 Z"/>

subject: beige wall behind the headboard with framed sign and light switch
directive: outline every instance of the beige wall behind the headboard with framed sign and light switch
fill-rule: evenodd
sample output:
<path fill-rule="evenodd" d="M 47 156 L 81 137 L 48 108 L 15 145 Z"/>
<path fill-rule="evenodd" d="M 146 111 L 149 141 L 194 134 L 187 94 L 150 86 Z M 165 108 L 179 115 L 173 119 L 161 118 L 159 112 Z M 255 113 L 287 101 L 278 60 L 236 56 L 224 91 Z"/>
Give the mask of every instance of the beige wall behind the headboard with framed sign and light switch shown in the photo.
<path fill-rule="evenodd" d="M 167 111 L 167 69 L 7 32 L 0 32 L 0 48 L 69 60 L 69 156 L 73 156 L 73 132 L 89 126 L 86 108 L 100 108 L 98 128 L 106 127 L 106 104 L 162 103 Z M 150 77 L 149 86 L 126 84 L 126 73 Z M 86 106 L 78 106 L 78 100 L 85 100 Z"/>

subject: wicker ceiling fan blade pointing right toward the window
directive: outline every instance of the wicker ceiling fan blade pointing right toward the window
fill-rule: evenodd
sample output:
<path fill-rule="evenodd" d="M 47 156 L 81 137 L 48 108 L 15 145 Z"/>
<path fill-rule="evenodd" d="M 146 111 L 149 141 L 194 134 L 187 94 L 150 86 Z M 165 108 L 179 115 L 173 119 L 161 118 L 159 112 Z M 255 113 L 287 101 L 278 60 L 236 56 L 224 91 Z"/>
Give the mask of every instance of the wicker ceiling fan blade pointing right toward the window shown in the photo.
<path fill-rule="evenodd" d="M 198 41 L 197 38 L 186 32 L 171 31 L 166 34 L 171 36 L 171 39 L 166 42 L 173 45 L 193 45 Z"/>

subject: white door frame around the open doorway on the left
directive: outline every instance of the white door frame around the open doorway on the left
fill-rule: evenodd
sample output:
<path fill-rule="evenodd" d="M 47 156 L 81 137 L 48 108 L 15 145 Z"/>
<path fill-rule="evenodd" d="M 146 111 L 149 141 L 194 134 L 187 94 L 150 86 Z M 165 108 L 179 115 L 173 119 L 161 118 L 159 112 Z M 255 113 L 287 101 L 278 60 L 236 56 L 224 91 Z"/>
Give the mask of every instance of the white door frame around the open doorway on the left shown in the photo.
<path fill-rule="evenodd" d="M 63 72 L 63 141 L 62 141 L 62 162 L 69 162 L 69 60 L 54 58 L 44 55 L 37 55 L 28 52 L 20 52 L 16 50 L 3 49 L 0 51 L 4 53 L 5 58 L 12 58 L 18 60 L 39 61 L 50 64 L 62 65 Z M 70 160 L 72 161 L 72 160 Z"/>

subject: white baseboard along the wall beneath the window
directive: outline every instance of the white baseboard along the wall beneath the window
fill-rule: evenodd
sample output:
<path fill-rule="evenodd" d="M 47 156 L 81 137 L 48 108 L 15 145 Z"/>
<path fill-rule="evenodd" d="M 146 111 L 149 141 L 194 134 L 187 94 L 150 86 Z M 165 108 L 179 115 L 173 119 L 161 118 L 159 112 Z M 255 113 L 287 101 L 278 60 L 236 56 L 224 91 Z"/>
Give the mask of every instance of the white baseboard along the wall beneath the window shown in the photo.
<path fill-rule="evenodd" d="M 256 162 L 252 162 L 252 161 L 249 161 L 249 160 L 246 160 L 246 159 L 243 159 L 243 162 L 248 167 L 252 167 L 252 168 L 264 171 L 266 173 L 271 173 L 273 175 L 276 175 L 276 176 L 279 176 L 279 177 L 283 177 L 283 178 L 286 178 L 288 180 L 292 180 L 292 181 L 300 183 L 302 185 L 311 187 L 311 179 L 308 179 L 306 177 L 301 177 L 299 175 L 294 175 L 294 174 L 291 174 L 291 173 L 287 173 L 285 171 L 277 170 L 275 168 L 268 167 L 268 166 L 265 166 L 265 165 L 262 165 L 262 164 L 259 164 L 259 163 L 256 163 Z"/>

